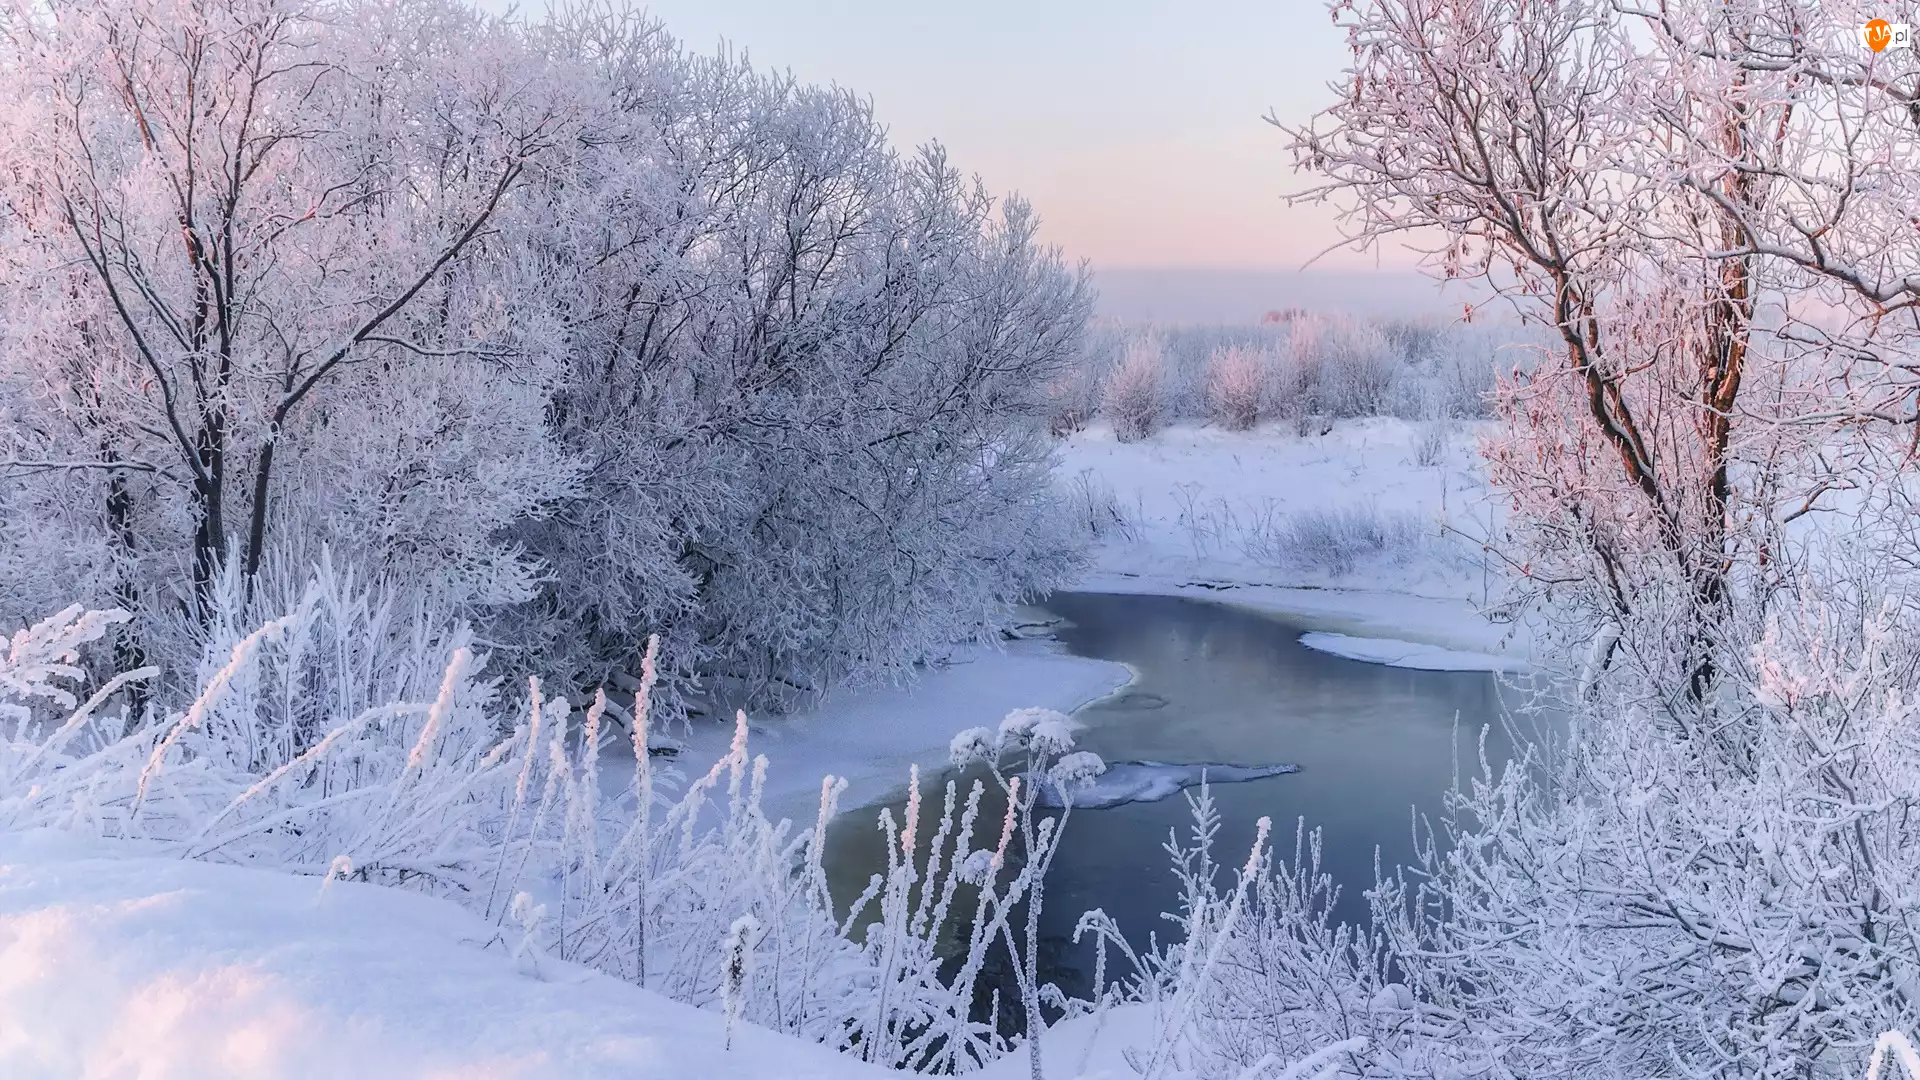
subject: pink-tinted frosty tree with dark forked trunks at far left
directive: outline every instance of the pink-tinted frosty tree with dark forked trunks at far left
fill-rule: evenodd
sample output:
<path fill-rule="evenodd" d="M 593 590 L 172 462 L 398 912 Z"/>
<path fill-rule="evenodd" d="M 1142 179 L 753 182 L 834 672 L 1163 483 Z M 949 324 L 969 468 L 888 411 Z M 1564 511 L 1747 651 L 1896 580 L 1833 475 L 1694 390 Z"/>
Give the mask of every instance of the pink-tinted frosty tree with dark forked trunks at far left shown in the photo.
<path fill-rule="evenodd" d="M 570 90 L 434 0 L 21 4 L 0 48 L 10 601 L 205 623 L 321 544 L 524 598 L 495 534 L 574 469 L 511 217 Z"/>

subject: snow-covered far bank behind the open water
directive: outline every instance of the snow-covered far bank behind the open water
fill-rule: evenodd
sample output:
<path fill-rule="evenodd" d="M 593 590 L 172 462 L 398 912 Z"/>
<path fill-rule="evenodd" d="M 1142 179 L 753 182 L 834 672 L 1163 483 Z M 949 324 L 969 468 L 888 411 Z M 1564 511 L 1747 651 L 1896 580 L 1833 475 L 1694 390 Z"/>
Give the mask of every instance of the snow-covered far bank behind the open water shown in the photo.
<path fill-rule="evenodd" d="M 1169 427 L 1119 442 L 1091 425 L 1060 444 L 1060 475 L 1112 511 L 1083 592 L 1206 598 L 1308 621 L 1369 648 L 1369 663 L 1513 671 L 1524 626 L 1490 617 L 1500 528 L 1471 425 L 1392 417 L 1327 434 Z M 1319 544 L 1348 544 L 1329 552 Z"/>

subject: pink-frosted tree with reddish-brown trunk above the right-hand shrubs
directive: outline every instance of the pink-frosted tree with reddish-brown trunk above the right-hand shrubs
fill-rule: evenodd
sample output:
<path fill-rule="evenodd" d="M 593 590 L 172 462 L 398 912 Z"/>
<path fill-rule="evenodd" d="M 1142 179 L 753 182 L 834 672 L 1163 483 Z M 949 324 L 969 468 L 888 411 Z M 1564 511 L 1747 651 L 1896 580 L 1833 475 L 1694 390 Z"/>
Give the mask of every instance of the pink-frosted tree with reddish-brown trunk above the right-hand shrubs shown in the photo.
<path fill-rule="evenodd" d="M 1832 490 L 1812 432 L 1903 423 L 1910 394 L 1887 352 L 1920 256 L 1910 96 L 1853 13 L 1363 4 L 1346 100 L 1290 133 L 1357 238 L 1427 236 L 1436 273 L 1557 336 L 1492 448 L 1530 530 L 1517 565 L 1596 619 L 1663 625 L 1695 700 L 1770 540 L 1755 511 Z"/>

